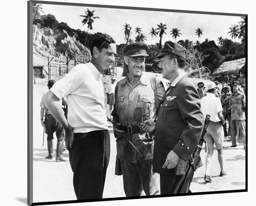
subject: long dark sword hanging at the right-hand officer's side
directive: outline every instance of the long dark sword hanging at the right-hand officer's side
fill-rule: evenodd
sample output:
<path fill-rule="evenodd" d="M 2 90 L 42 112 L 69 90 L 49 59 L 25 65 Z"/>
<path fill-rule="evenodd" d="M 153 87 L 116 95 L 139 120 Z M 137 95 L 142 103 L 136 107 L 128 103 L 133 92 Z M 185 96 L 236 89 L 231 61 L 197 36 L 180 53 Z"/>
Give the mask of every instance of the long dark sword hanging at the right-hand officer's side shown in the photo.
<path fill-rule="evenodd" d="M 195 152 L 189 158 L 189 164 L 188 164 L 188 166 L 185 170 L 184 179 L 183 179 L 181 185 L 179 186 L 179 189 L 178 189 L 177 193 L 188 193 L 188 191 L 189 191 L 189 186 L 190 186 L 190 183 L 193 179 L 194 172 L 199 167 L 198 165 L 201 161 L 200 152 L 202 150 L 202 144 L 204 142 L 206 142 L 205 141 L 205 134 L 207 132 L 207 128 L 209 126 L 209 123 L 210 123 L 210 115 L 207 114 L 206 117 L 205 117 L 204 127 L 203 127 L 201 138 L 198 142 L 197 147 L 195 148 Z"/>

